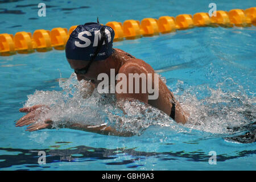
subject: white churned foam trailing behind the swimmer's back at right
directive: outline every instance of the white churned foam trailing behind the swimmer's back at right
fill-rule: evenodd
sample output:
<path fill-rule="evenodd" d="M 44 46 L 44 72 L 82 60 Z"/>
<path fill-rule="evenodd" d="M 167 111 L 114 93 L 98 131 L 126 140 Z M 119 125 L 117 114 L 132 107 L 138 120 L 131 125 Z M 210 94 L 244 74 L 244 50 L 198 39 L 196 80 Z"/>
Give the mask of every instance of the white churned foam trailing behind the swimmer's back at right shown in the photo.
<path fill-rule="evenodd" d="M 180 81 L 178 84 L 183 83 Z M 247 96 L 242 86 L 232 78 L 226 78 L 216 86 L 217 89 L 208 85 L 191 86 L 182 94 L 176 90 L 181 106 L 190 114 L 185 126 L 209 133 L 233 134 L 242 131 L 234 130 L 236 127 L 255 122 L 254 94 Z"/>

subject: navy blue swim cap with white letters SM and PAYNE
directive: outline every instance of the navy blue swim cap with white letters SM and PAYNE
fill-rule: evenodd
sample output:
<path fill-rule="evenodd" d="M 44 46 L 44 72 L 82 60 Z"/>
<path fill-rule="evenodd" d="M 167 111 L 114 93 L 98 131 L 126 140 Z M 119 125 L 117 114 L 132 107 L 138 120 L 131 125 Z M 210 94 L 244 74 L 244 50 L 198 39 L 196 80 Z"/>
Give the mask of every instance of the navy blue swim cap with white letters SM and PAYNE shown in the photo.
<path fill-rule="evenodd" d="M 100 23 L 85 23 L 77 26 L 69 36 L 65 46 L 67 59 L 90 61 L 102 38 L 102 27 L 105 29 L 106 40 L 94 60 L 104 60 L 112 55 L 114 30 L 109 26 L 102 26 Z"/>

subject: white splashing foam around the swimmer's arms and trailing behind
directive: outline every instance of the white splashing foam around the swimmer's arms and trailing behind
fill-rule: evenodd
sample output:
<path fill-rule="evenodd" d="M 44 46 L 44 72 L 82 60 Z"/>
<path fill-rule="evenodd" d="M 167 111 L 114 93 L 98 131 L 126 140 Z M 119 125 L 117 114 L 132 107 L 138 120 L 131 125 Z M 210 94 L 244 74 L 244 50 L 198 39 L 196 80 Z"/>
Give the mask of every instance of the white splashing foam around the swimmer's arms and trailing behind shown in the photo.
<path fill-rule="evenodd" d="M 254 94 L 247 96 L 242 86 L 232 78 L 217 84 L 217 89 L 208 85 L 184 88 L 183 82 L 178 81 L 174 94 L 190 115 L 185 125 L 177 124 L 167 114 L 142 102 L 116 102 L 114 94 L 99 94 L 90 82 L 77 81 L 75 73 L 67 81 L 60 79 L 59 85 L 63 89 L 59 92 L 36 90 L 28 96 L 25 104 L 49 106 L 50 109 L 44 108 L 39 114 L 38 122 L 49 118 L 55 128 L 71 122 L 106 124 L 137 135 L 151 125 L 169 127 L 176 132 L 190 132 L 193 129 L 212 134 L 238 134 L 243 130 L 236 130 L 237 127 L 247 126 L 256 118 Z M 120 105 L 125 114 L 119 109 Z"/>

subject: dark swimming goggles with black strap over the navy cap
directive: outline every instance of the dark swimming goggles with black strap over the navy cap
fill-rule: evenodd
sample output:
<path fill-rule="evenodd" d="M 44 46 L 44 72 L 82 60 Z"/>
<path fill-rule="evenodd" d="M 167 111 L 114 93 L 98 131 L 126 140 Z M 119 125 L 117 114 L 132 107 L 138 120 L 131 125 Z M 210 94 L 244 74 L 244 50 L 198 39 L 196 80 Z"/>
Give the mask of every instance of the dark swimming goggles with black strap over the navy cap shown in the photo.
<path fill-rule="evenodd" d="M 106 39 L 106 33 L 105 33 L 105 27 L 101 27 L 100 32 L 101 32 L 100 43 L 98 43 L 98 47 L 96 48 L 96 51 L 94 52 L 94 55 L 93 55 L 92 59 L 90 60 L 88 65 L 86 65 L 86 67 L 81 68 L 81 69 L 75 69 L 76 74 L 85 75 L 88 72 L 88 69 L 89 69 L 90 65 L 92 64 L 92 62 L 94 61 L 94 59 L 98 55 L 98 52 L 100 52 L 100 49 L 102 47 L 102 44 L 103 44 L 104 40 L 105 40 L 106 46 L 108 46 L 107 39 Z"/>

